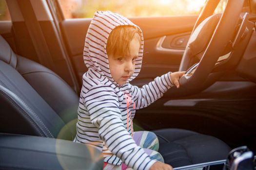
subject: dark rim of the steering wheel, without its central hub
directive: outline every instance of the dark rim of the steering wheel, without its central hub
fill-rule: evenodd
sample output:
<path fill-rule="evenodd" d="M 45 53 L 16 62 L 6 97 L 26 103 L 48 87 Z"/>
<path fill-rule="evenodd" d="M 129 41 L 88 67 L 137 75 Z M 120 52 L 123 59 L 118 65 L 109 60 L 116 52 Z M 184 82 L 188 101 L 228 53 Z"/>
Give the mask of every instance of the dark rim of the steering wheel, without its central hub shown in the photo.
<path fill-rule="evenodd" d="M 219 0 L 208 0 L 202 9 L 197 22 L 194 26 L 193 32 L 190 36 L 192 38 L 195 34 L 197 26 L 207 17 L 213 14 Z M 215 31 L 204 50 L 200 62 L 198 63 L 195 72 L 187 79 L 187 82 L 183 82 L 183 86 L 196 85 L 197 88 L 207 79 L 211 71 L 213 70 L 218 57 L 221 52 L 231 43 L 233 35 L 235 33 L 236 22 L 242 11 L 244 0 L 228 0 L 226 8 L 220 17 Z M 227 31 L 228 30 L 228 31 Z M 190 39 L 188 42 L 190 42 Z M 191 66 L 193 56 L 189 52 L 189 43 L 186 46 L 185 52 L 182 56 L 179 71 L 186 71 Z"/>

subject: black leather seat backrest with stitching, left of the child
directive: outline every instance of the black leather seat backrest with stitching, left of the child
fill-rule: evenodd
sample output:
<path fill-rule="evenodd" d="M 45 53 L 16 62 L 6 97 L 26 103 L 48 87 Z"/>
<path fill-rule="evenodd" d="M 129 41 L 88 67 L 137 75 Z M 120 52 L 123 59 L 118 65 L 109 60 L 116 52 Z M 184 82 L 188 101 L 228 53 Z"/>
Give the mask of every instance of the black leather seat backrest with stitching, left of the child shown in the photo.
<path fill-rule="evenodd" d="M 0 49 L 1 132 L 73 140 L 77 94 L 53 71 L 16 55 L 1 36 Z"/>

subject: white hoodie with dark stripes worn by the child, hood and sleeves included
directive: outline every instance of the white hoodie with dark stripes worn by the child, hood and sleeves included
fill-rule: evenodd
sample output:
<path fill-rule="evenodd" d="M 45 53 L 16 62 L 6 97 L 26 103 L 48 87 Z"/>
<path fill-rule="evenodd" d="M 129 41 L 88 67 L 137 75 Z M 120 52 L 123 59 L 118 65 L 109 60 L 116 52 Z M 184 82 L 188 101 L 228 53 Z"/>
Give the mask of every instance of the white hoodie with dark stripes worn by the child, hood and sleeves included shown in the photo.
<path fill-rule="evenodd" d="M 106 52 L 111 31 L 120 25 L 138 27 L 130 20 L 110 11 L 95 13 L 86 34 L 83 59 L 88 71 L 82 76 L 77 136 L 75 142 L 85 143 L 102 151 L 104 162 L 135 170 L 148 170 L 151 160 L 133 140 L 133 118 L 136 109 L 147 107 L 172 86 L 170 72 L 155 78 L 141 88 L 131 85 L 139 73 L 143 54 L 143 36 L 134 74 L 127 83 L 118 85 L 112 78 Z"/>

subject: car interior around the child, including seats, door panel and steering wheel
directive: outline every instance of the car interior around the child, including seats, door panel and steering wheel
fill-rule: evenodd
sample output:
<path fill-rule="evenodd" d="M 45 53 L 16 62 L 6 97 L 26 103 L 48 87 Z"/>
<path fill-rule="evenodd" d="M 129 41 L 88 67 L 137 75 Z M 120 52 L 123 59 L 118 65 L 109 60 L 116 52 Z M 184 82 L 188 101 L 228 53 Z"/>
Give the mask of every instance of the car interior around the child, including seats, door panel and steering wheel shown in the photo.
<path fill-rule="evenodd" d="M 0 21 L 0 170 L 102 169 L 100 151 L 73 142 L 91 18 L 65 19 L 58 0 L 5 2 L 11 20 Z M 206 0 L 199 16 L 129 18 L 145 44 L 132 85 L 186 71 L 179 89 L 137 110 L 134 121 L 156 133 L 175 170 L 255 166 L 256 1 L 228 0 L 214 14 L 218 3 Z"/>

